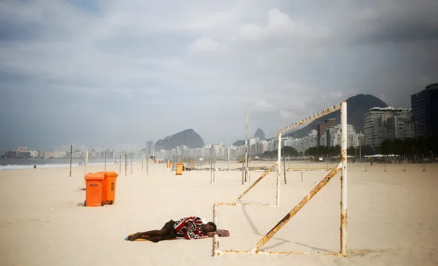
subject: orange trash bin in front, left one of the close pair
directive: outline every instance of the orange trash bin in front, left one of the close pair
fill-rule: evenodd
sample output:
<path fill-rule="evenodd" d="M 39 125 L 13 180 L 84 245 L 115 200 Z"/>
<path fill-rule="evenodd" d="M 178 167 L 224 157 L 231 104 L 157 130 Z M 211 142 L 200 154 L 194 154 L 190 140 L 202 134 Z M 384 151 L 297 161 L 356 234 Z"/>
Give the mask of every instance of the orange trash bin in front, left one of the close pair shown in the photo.
<path fill-rule="evenodd" d="M 85 202 L 86 207 L 104 206 L 102 191 L 104 188 L 104 173 L 87 173 L 85 176 Z"/>

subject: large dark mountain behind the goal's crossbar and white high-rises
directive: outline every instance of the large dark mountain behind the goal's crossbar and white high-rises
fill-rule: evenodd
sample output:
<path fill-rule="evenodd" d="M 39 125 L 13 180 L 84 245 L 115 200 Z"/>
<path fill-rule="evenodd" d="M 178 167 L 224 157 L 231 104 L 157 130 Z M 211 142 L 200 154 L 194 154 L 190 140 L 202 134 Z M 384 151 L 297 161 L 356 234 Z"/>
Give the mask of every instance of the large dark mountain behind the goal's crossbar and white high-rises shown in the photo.
<path fill-rule="evenodd" d="M 349 124 L 354 126 L 354 129 L 361 127 L 361 131 L 363 132 L 363 113 L 373 107 L 387 107 L 384 101 L 378 99 L 373 95 L 363 95 L 358 94 L 353 97 L 347 99 L 347 121 Z M 297 138 L 303 138 L 307 136 L 312 130 L 317 129 L 318 123 L 324 122 L 326 119 L 336 119 L 337 123 L 341 123 L 341 110 L 337 110 L 336 112 L 332 112 L 330 114 L 325 115 L 324 117 L 319 117 L 319 119 L 315 119 L 304 128 L 297 130 L 295 132 L 286 134 L 285 136 L 295 136 Z"/>

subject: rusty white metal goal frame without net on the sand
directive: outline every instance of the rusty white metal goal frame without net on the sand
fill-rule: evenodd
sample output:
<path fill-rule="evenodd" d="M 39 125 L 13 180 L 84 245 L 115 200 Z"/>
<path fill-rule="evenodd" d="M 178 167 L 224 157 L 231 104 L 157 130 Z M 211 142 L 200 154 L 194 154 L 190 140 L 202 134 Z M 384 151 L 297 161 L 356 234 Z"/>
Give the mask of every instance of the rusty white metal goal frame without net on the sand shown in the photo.
<path fill-rule="evenodd" d="M 239 200 L 243 195 L 245 195 L 250 189 L 252 189 L 261 179 L 267 176 L 274 166 L 277 166 L 277 180 L 276 180 L 276 206 L 280 206 L 280 165 L 281 165 L 281 136 L 282 133 L 292 130 L 293 128 L 297 128 L 304 123 L 310 123 L 311 121 L 324 117 L 326 114 L 330 114 L 331 112 L 341 110 L 341 162 L 331 169 L 330 173 L 321 180 L 304 198 L 298 203 L 292 210 L 287 213 L 278 223 L 274 226 L 265 237 L 260 239 L 254 247 L 250 250 L 219 250 L 219 236 L 215 234 L 213 236 L 213 256 L 219 256 L 221 254 L 311 254 L 311 253 L 319 253 L 319 254 L 330 254 L 336 256 L 347 256 L 347 147 L 348 147 L 348 130 L 347 130 L 347 102 L 342 101 L 339 104 L 334 106 L 330 106 L 326 110 L 318 112 L 311 117 L 307 117 L 302 121 L 297 123 L 293 123 L 286 128 L 282 128 L 278 131 L 278 159 L 269 169 L 263 173 L 258 180 L 256 180 L 245 192 L 243 192 L 237 199 L 232 203 L 215 203 L 213 206 L 213 222 L 218 225 L 217 221 L 217 207 L 219 205 L 230 205 L 236 206 L 239 203 Z M 273 237 L 278 230 L 280 230 L 304 205 L 309 202 L 313 196 L 316 195 L 339 171 L 341 171 L 341 248 L 339 253 L 332 252 L 273 252 L 273 251 L 265 251 L 260 250 L 269 239 Z"/>

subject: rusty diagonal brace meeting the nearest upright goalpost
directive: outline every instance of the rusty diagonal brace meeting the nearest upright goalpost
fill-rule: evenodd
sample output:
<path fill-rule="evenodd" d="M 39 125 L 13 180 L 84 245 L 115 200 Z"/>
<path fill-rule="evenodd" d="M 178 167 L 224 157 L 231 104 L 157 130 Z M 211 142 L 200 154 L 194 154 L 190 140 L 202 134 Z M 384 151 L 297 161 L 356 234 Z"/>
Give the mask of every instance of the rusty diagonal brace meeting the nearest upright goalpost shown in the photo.
<path fill-rule="evenodd" d="M 293 215 L 295 215 L 299 210 L 301 210 L 302 207 L 304 207 L 304 205 L 306 205 L 306 203 L 312 199 L 313 196 L 316 195 L 316 193 L 318 193 L 318 191 L 320 191 L 332 178 L 334 175 L 336 175 L 339 171 L 341 171 L 341 166 L 342 166 L 342 162 L 339 163 L 339 165 L 337 165 L 337 167 L 335 167 L 334 169 L 332 169 L 332 171 L 330 171 L 330 173 L 328 173 L 328 175 L 321 180 L 321 182 L 319 182 L 312 190 L 311 192 L 309 192 L 302 200 L 299 204 L 297 204 L 297 206 L 293 207 L 293 209 L 286 215 L 284 216 L 277 224 L 276 226 L 274 226 L 266 235 L 265 237 L 263 237 L 262 239 L 260 239 L 260 241 L 258 241 L 258 243 L 256 243 L 256 245 L 250 250 L 250 252 L 252 253 L 257 253 L 258 250 L 260 249 L 260 247 L 262 247 L 263 245 L 265 245 L 265 243 L 267 241 L 269 241 L 269 239 L 271 239 L 271 237 L 273 237 L 274 234 L 276 234 L 276 232 L 278 232 L 278 230 L 280 230 L 292 217 Z"/>

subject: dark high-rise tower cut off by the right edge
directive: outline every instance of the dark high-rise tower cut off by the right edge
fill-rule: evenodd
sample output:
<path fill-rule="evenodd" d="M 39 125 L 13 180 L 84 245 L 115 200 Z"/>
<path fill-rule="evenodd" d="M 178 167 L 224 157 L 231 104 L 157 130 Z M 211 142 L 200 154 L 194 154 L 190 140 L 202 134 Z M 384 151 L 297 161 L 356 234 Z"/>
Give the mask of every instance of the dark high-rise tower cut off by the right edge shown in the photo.
<path fill-rule="evenodd" d="M 415 136 L 438 136 L 438 83 L 411 95 Z"/>

